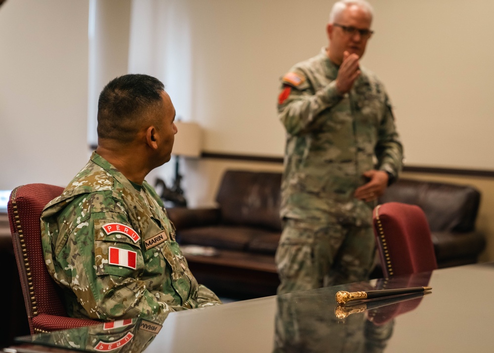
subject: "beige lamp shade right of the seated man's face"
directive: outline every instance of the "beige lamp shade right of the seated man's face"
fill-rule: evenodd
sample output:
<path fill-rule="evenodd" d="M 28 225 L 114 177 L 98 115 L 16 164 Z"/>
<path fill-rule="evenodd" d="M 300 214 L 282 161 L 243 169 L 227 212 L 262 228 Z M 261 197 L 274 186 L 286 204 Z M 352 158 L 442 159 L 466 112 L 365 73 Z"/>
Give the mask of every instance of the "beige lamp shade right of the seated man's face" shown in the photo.
<path fill-rule="evenodd" d="M 197 123 L 176 121 L 177 133 L 172 154 L 184 157 L 199 157 L 202 148 L 202 131 Z"/>

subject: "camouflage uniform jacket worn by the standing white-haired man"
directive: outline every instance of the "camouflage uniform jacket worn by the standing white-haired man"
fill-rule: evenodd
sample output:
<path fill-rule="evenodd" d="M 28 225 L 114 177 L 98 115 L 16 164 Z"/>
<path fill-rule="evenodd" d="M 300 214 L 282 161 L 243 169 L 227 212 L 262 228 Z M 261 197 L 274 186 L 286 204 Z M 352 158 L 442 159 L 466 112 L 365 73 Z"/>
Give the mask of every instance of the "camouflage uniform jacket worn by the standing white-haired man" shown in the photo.
<path fill-rule="evenodd" d="M 398 177 L 403 147 L 383 85 L 361 67 L 340 95 L 326 49 L 282 78 L 279 118 L 287 132 L 281 216 L 369 225 L 373 203 L 353 197 L 371 169 Z"/>

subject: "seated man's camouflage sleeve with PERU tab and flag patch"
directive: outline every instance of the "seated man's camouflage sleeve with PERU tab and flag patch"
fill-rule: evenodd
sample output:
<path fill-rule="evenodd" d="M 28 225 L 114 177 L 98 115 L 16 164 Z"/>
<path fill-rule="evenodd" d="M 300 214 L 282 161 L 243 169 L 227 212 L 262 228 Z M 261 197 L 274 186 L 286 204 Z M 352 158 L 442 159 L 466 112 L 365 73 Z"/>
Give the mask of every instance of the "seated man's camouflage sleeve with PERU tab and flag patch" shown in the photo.
<path fill-rule="evenodd" d="M 100 320 L 140 316 L 161 323 L 169 312 L 185 309 L 170 294 L 146 288 L 139 242 L 122 232 L 104 231 L 103 225 L 112 222 L 131 229 L 124 214 L 93 213 L 55 251 L 59 270 L 87 315 Z"/>

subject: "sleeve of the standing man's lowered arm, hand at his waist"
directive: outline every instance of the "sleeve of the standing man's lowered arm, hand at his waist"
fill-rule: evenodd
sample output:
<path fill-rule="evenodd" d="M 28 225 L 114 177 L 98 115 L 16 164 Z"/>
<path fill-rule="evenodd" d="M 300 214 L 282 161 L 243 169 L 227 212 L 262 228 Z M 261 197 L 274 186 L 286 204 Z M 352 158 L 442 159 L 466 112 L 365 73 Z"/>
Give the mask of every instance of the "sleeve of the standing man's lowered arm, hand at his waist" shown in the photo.
<path fill-rule="evenodd" d="M 384 116 L 379 126 L 375 155 L 379 170 L 385 171 L 396 180 L 403 168 L 403 145 L 396 130 L 395 119 L 386 96 Z"/>

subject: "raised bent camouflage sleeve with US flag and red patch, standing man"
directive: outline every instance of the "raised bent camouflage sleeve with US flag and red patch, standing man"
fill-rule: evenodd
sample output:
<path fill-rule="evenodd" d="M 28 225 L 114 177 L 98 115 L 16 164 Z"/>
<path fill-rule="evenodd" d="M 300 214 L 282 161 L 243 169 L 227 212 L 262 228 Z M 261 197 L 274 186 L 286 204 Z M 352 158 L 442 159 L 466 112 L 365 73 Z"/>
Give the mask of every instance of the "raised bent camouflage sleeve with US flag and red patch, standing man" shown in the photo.
<path fill-rule="evenodd" d="M 293 82 L 292 78 L 296 79 Z M 321 113 L 332 108 L 343 97 L 335 81 L 314 91 L 302 72 L 290 72 L 282 79 L 278 97 L 278 113 L 289 134 L 300 135 L 318 128 Z"/>

